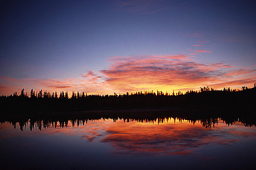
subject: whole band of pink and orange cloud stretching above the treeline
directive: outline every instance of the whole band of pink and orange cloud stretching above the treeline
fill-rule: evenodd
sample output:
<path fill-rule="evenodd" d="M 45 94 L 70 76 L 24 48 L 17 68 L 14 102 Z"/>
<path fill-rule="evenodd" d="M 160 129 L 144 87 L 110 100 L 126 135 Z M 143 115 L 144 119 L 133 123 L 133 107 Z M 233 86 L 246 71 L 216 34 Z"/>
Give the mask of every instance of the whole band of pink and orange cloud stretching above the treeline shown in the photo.
<path fill-rule="evenodd" d="M 108 68 L 89 70 L 76 78 L 39 79 L 0 77 L 0 94 L 25 88 L 49 91 L 84 91 L 113 94 L 141 90 L 186 91 L 209 85 L 214 88 L 252 86 L 256 69 L 238 68 L 224 62 L 205 63 L 187 55 L 140 55 L 109 57 Z"/>

